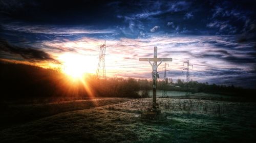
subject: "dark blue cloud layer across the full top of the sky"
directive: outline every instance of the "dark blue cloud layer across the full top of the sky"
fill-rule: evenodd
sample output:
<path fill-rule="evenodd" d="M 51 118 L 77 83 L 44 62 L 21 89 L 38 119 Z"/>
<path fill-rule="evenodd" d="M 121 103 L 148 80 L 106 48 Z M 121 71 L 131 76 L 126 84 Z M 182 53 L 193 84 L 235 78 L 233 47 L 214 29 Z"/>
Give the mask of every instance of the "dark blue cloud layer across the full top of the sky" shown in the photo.
<path fill-rule="evenodd" d="M 0 2 L 3 24 L 23 22 L 61 26 L 86 25 L 86 33 L 90 30 L 115 30 L 119 37 L 129 38 L 147 37 L 152 35 L 152 32 L 194 35 L 242 34 L 253 27 L 256 17 L 255 1 Z M 161 28 L 156 31 L 156 28 L 153 28 L 155 26 Z M 30 27 L 30 31 L 37 32 L 36 25 Z M 44 26 L 39 30 L 41 31 L 49 33 Z M 53 34 L 67 33 L 61 27 L 50 31 Z M 240 39 L 244 41 L 245 38 Z"/>

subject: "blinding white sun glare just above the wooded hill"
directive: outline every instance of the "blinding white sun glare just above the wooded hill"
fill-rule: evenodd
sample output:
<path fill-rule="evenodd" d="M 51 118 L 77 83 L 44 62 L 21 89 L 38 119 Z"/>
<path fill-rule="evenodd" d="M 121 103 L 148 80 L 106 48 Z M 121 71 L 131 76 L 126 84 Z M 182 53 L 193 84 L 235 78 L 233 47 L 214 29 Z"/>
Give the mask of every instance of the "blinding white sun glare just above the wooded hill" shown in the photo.
<path fill-rule="evenodd" d="M 80 54 L 65 53 L 59 56 L 62 62 L 62 72 L 74 79 L 82 78 L 85 73 L 94 73 L 94 65 L 90 58 Z"/>

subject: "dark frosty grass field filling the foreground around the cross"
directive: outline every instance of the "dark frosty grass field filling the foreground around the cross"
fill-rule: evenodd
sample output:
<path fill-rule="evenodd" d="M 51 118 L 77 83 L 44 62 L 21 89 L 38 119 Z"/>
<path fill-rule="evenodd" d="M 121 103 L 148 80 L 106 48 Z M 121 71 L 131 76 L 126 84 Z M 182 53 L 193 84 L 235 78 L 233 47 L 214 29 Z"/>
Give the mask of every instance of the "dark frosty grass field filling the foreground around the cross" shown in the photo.
<path fill-rule="evenodd" d="M 167 119 L 144 121 L 151 98 L 6 106 L 1 142 L 255 142 L 256 103 L 158 98 Z M 20 121 L 20 122 L 18 122 Z M 15 123 L 15 124 L 12 124 Z"/>

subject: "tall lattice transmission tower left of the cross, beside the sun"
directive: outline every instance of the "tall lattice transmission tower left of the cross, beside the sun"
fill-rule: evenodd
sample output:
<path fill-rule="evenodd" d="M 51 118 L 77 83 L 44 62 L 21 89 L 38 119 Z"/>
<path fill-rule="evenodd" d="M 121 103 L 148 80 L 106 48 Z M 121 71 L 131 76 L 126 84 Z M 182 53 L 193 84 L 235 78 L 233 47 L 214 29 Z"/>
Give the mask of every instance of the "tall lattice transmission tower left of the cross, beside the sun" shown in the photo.
<path fill-rule="evenodd" d="M 106 79 L 106 70 L 105 70 L 105 52 L 106 52 L 106 41 L 99 46 L 99 63 L 98 68 L 96 71 L 97 77 L 101 77 L 103 79 Z M 100 71 L 102 71 L 102 74 L 100 75 Z"/>

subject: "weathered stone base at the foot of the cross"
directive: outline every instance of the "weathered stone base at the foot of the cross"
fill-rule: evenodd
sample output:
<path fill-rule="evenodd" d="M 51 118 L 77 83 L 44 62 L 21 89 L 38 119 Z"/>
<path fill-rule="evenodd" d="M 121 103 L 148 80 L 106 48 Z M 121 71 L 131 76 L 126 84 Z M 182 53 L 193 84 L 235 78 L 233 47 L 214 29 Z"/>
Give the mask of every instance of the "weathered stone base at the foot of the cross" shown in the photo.
<path fill-rule="evenodd" d="M 141 114 L 141 119 L 146 119 L 146 120 L 165 120 L 166 115 L 165 113 L 161 113 L 161 110 L 148 110 L 145 111 Z"/>

